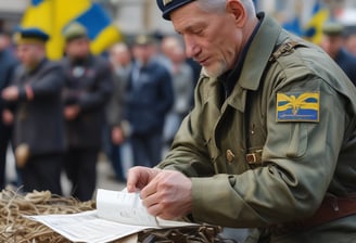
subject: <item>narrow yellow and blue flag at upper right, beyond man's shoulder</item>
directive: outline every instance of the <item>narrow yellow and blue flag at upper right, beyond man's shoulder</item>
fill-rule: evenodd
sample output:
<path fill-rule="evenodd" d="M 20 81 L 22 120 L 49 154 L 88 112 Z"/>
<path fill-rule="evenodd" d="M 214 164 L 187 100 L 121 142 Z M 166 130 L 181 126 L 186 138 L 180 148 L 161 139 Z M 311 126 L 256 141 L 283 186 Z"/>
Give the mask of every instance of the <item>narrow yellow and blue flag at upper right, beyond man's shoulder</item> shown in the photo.
<path fill-rule="evenodd" d="M 319 44 L 322 37 L 322 26 L 329 20 L 329 10 L 316 0 L 313 8 L 313 15 L 305 26 L 304 37 L 312 42 Z"/>

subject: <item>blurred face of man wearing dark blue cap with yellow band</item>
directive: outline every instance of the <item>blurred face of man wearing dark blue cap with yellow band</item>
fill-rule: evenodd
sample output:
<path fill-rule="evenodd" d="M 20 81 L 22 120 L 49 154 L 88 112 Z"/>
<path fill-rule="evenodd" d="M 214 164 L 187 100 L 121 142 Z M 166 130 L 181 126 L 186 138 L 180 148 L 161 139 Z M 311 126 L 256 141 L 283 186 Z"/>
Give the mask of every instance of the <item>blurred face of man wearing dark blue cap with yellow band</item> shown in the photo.
<path fill-rule="evenodd" d="M 41 59 L 43 48 L 44 47 L 37 43 L 21 43 L 16 48 L 16 55 L 24 66 L 30 68 Z"/>

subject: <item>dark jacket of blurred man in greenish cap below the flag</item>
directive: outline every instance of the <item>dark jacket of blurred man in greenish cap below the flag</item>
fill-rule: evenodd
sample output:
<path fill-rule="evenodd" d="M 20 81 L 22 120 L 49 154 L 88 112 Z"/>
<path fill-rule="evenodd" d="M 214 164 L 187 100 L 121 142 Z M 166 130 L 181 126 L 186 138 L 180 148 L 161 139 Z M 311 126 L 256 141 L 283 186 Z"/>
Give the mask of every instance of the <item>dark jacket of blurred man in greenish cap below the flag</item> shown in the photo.
<path fill-rule="evenodd" d="M 98 149 L 105 123 L 105 105 L 113 89 L 113 74 L 106 60 L 89 55 L 76 63 L 63 59 L 65 88 L 64 105 L 78 105 L 80 112 L 74 120 L 66 120 L 69 148 Z"/>

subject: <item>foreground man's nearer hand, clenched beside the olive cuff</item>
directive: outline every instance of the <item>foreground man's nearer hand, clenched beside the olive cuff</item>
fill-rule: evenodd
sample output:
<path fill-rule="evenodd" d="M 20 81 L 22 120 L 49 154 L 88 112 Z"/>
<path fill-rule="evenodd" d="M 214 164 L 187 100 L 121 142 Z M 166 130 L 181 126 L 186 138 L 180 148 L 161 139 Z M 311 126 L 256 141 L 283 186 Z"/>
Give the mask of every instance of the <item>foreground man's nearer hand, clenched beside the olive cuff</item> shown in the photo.
<path fill-rule="evenodd" d="M 151 215 L 175 219 L 191 213 L 191 180 L 181 172 L 161 170 L 141 190 L 141 199 Z"/>

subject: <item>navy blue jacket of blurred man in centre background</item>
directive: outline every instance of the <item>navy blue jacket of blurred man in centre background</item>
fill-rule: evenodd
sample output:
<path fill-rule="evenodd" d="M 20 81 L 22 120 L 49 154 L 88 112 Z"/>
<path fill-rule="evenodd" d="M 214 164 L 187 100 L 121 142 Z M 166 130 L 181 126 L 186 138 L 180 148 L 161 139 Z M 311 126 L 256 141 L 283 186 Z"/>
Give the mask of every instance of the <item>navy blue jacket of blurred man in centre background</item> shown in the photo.
<path fill-rule="evenodd" d="M 134 78 L 136 68 L 134 66 L 131 69 L 125 90 L 124 116 L 135 135 L 161 132 L 165 116 L 174 104 L 171 76 L 154 59 L 141 68 L 138 80 Z"/>

